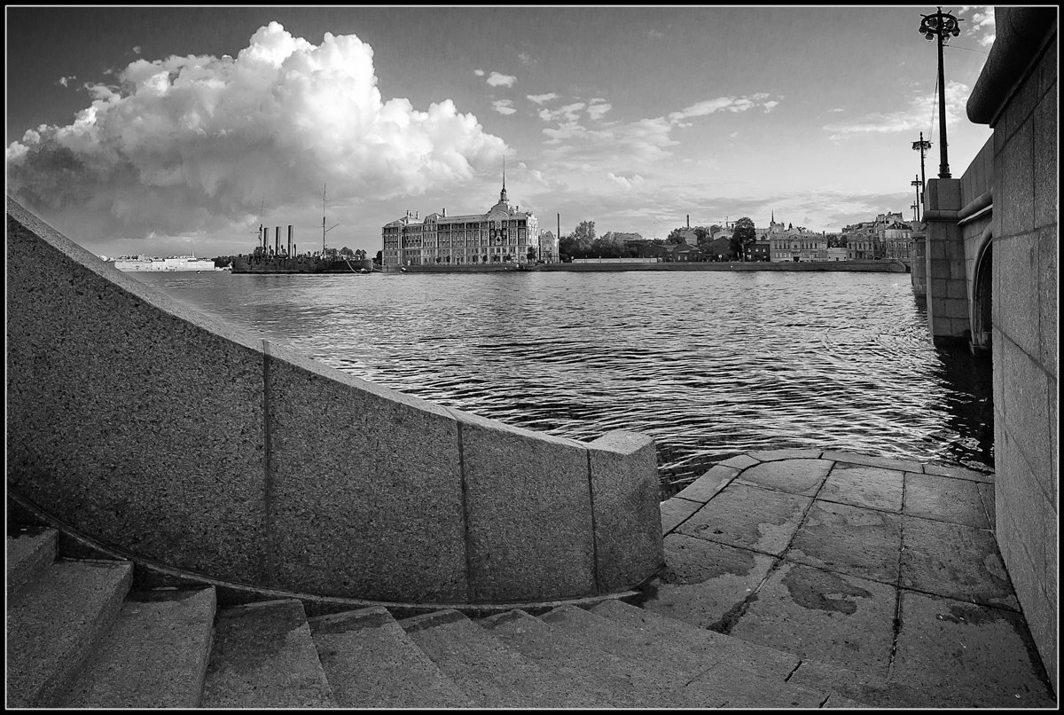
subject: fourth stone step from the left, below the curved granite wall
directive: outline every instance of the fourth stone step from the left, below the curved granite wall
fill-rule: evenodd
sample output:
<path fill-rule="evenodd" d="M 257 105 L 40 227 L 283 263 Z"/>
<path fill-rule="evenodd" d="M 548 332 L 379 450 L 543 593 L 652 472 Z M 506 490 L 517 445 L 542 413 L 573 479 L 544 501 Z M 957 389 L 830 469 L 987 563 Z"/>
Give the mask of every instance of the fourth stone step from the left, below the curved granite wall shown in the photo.
<path fill-rule="evenodd" d="M 201 706 L 336 706 L 300 601 L 218 612 Z"/>

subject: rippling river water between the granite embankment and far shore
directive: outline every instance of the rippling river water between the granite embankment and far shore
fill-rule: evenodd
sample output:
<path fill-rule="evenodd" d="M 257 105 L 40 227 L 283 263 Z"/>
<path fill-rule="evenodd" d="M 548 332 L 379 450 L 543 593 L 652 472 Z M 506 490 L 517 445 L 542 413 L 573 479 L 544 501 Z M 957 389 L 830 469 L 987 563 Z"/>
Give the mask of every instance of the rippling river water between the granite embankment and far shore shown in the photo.
<path fill-rule="evenodd" d="M 993 466 L 990 363 L 932 346 L 908 273 L 130 276 L 447 406 L 649 434 L 663 496 L 759 449 Z"/>

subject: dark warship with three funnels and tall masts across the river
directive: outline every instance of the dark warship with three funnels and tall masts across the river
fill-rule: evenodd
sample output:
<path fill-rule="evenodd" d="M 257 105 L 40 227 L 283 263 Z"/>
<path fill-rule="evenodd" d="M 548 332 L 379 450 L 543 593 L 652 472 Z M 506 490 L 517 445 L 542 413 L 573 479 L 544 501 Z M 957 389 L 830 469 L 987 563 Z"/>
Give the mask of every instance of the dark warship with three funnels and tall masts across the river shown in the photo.
<path fill-rule="evenodd" d="M 326 186 L 321 186 L 321 252 L 300 253 L 293 243 L 293 226 L 288 225 L 288 242 L 281 244 L 281 227 L 273 228 L 273 245 L 269 245 L 269 227 L 260 218 L 259 245 L 250 254 L 233 257 L 234 273 L 369 273 L 372 262 L 359 261 L 326 247 L 326 234 L 338 223 L 326 228 Z"/>

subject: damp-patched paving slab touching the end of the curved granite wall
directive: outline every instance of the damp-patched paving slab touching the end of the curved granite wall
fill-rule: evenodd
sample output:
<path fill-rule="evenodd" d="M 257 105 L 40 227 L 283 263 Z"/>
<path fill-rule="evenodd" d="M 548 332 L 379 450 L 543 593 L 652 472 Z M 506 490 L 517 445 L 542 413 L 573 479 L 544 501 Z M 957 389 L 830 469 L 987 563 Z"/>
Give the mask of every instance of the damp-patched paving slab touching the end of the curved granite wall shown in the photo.
<path fill-rule="evenodd" d="M 665 569 L 645 610 L 701 628 L 721 621 L 765 580 L 774 556 L 684 534 L 665 537 Z"/>

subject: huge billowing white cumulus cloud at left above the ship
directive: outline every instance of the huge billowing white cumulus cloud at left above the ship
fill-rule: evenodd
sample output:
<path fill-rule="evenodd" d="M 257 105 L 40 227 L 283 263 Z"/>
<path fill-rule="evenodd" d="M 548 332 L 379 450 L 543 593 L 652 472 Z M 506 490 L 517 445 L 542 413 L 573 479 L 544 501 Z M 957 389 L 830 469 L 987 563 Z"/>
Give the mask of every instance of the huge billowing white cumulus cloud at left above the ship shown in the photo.
<path fill-rule="evenodd" d="M 67 126 L 6 149 L 7 190 L 55 220 L 112 237 L 250 223 L 263 196 L 313 205 L 416 196 L 473 178 L 505 149 L 451 100 L 384 100 L 372 49 L 320 45 L 271 22 L 235 59 L 138 59 L 89 86 Z"/>

